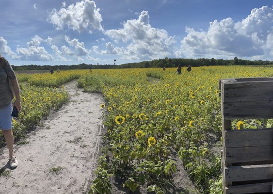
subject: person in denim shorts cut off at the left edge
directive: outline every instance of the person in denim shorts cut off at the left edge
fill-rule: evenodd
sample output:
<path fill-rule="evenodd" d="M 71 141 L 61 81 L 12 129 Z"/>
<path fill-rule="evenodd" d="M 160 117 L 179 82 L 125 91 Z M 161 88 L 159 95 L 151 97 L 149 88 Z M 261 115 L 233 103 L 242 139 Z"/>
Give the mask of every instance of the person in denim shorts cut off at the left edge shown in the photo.
<path fill-rule="evenodd" d="M 9 83 L 10 81 L 10 83 Z M 15 93 L 15 102 L 13 87 Z M 16 75 L 9 62 L 0 55 L 0 129 L 4 135 L 5 141 L 9 149 L 9 163 L 12 168 L 18 165 L 13 151 L 13 132 L 12 132 L 12 110 L 16 107 L 18 112 L 21 111 L 20 88 Z"/>

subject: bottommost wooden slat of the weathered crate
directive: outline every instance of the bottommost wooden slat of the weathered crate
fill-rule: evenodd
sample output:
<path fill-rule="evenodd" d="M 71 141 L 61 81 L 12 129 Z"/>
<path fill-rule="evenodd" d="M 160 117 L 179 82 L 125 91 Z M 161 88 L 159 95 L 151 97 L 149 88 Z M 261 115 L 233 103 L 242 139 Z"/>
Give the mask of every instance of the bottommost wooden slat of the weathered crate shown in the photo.
<path fill-rule="evenodd" d="M 253 194 L 253 193 L 271 193 L 271 192 L 272 192 L 272 182 L 228 186 L 225 188 L 225 194 Z"/>

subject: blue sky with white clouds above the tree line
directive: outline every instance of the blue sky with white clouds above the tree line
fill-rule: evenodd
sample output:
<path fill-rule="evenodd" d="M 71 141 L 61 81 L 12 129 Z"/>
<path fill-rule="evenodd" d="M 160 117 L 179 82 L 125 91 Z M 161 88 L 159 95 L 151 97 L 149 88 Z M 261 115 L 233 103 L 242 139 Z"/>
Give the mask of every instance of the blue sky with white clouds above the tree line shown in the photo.
<path fill-rule="evenodd" d="M 272 0 L 0 0 L 11 65 L 273 61 Z"/>

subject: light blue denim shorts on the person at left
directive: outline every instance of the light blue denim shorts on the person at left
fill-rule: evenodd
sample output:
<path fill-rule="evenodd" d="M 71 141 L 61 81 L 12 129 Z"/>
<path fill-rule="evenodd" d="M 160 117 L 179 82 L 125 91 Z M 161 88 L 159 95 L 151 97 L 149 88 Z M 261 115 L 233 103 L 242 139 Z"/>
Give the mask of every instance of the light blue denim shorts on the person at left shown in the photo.
<path fill-rule="evenodd" d="M 9 130 L 12 128 L 12 103 L 0 109 L 0 129 Z"/>

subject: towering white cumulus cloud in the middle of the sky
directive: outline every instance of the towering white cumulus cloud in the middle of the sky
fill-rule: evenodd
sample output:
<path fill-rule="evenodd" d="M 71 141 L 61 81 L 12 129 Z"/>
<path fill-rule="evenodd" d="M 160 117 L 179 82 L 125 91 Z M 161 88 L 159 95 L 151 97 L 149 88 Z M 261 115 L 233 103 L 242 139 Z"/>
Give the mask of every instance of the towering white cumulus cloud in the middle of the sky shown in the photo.
<path fill-rule="evenodd" d="M 174 36 L 169 36 L 163 29 L 153 28 L 149 24 L 147 11 L 142 11 L 138 19 L 123 23 L 123 28 L 105 32 L 114 42 L 128 43 L 123 48 L 115 48 L 111 43 L 106 44 L 107 52 L 111 54 L 123 53 L 125 58 L 133 60 L 150 60 L 170 56 L 176 43 Z"/>

